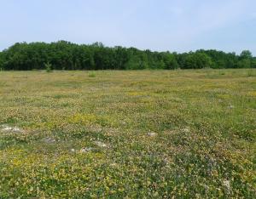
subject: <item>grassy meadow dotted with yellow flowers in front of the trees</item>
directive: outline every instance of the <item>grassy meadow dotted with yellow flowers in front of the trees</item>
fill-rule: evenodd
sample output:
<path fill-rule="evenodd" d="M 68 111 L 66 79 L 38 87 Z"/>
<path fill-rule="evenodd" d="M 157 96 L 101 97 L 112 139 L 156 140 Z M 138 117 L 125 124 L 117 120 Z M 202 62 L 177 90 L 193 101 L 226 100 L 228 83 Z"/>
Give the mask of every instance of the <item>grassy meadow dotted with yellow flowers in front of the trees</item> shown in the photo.
<path fill-rule="evenodd" d="M 255 198 L 256 71 L 0 71 L 0 198 Z"/>

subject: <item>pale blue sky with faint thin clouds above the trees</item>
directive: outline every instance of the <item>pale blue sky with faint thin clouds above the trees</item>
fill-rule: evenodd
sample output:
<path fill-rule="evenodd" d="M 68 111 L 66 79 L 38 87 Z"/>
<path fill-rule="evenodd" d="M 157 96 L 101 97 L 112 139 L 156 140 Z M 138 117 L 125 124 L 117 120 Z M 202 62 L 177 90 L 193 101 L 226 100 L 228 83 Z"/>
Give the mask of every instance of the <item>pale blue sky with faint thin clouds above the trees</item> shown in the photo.
<path fill-rule="evenodd" d="M 0 0 L 0 50 L 17 42 L 102 42 L 256 56 L 255 0 Z"/>

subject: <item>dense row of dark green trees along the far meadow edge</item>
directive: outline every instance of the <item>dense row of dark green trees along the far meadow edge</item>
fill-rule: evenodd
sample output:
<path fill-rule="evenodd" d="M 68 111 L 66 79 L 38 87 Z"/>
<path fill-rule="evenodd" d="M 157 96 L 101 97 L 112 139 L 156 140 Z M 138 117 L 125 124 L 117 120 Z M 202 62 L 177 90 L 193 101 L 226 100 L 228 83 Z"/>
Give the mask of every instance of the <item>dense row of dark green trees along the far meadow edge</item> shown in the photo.
<path fill-rule="evenodd" d="M 248 50 L 239 55 L 214 49 L 177 54 L 66 41 L 15 43 L 0 52 L 0 70 L 43 70 L 45 65 L 52 70 L 256 68 L 256 57 Z"/>

